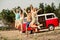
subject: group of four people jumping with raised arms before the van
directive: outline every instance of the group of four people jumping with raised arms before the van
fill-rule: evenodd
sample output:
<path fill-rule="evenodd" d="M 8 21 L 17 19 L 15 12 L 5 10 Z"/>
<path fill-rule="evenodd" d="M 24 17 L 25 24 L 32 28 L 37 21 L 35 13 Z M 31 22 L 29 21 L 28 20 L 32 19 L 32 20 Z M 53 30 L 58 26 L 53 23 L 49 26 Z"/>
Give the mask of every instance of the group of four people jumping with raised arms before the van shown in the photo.
<path fill-rule="evenodd" d="M 30 5 L 30 9 L 26 10 L 22 10 L 20 9 L 16 9 L 16 11 L 13 10 L 13 12 L 15 13 L 15 27 L 18 28 L 20 26 L 21 28 L 21 33 L 22 33 L 22 24 L 24 21 L 24 13 L 26 13 L 27 15 L 27 25 L 26 25 L 26 33 L 27 33 L 27 28 L 30 26 L 32 28 L 39 28 L 40 29 L 40 24 L 37 22 L 37 12 L 41 10 L 41 9 L 36 9 L 34 8 L 32 5 Z M 38 25 L 36 25 L 38 24 Z"/>

